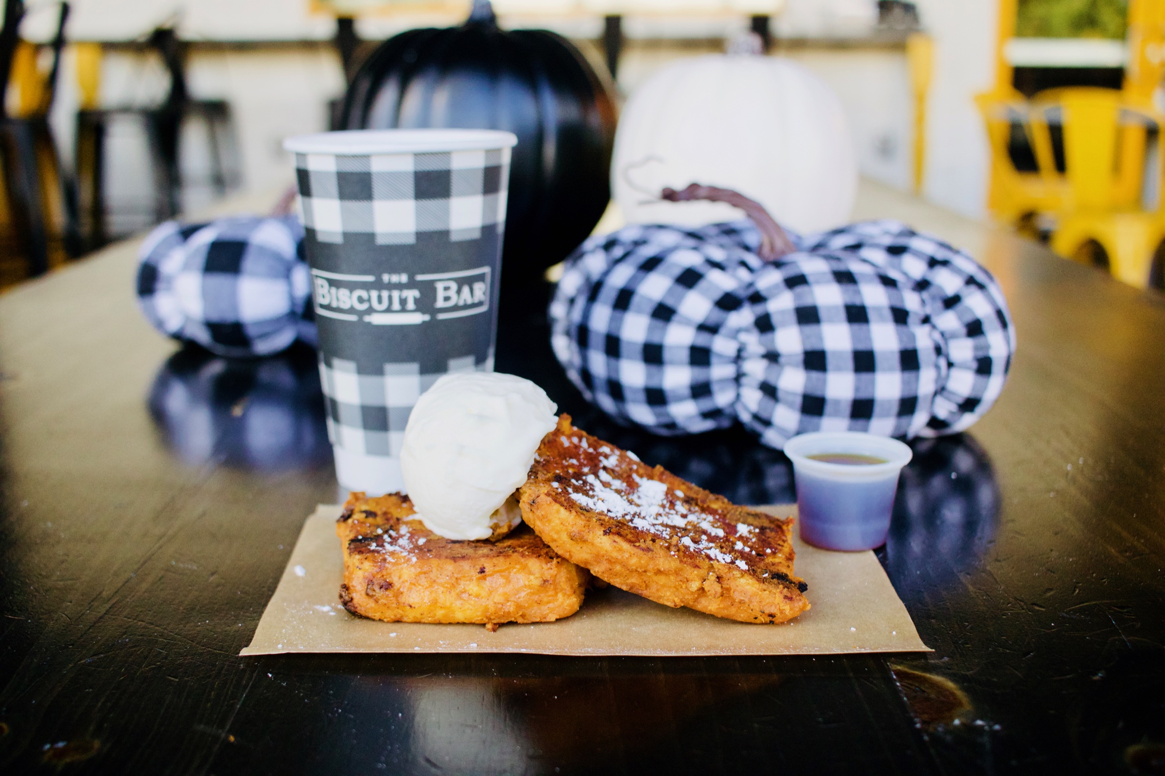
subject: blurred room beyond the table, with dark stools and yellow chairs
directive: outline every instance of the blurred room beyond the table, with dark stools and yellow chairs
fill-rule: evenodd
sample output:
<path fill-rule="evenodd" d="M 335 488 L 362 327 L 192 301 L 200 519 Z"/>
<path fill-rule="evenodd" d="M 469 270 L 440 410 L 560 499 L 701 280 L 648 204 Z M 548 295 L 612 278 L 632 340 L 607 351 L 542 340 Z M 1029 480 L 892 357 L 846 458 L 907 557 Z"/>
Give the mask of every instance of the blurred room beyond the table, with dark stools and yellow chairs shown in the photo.
<path fill-rule="evenodd" d="M 1160 285 L 1162 0 L 496 0 L 616 101 L 753 34 L 840 101 L 860 175 Z M 233 192 L 291 183 L 383 41 L 467 0 L 7 0 L 0 286 Z M 840 152 L 840 151 L 839 151 Z M 616 150 L 617 155 L 617 150 Z M 617 226 L 617 214 L 603 225 Z"/>

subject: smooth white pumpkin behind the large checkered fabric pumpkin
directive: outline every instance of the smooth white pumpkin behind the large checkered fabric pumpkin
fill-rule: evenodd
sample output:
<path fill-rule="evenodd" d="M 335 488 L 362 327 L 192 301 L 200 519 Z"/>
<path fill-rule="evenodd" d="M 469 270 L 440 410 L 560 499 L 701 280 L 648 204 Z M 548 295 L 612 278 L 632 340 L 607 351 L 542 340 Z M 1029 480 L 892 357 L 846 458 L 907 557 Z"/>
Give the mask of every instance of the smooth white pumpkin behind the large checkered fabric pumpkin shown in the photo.
<path fill-rule="evenodd" d="M 818 232 L 849 221 L 857 162 L 841 102 L 817 76 L 777 57 L 712 55 L 676 62 L 631 94 L 610 183 L 630 223 L 744 218 L 722 202 L 655 201 L 664 186 L 699 183 L 760 201 L 793 230 Z"/>

